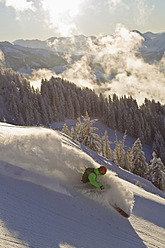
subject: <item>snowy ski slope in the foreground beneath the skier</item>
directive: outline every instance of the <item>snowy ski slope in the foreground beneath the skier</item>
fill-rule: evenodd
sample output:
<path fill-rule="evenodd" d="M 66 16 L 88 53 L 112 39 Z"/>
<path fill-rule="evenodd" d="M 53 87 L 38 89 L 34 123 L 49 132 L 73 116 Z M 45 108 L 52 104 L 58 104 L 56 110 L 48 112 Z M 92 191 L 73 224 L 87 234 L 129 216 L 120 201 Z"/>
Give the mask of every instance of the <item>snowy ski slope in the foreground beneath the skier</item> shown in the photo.
<path fill-rule="evenodd" d="M 74 197 L 88 190 L 84 166 L 98 162 L 108 168 L 106 190 Z M 0 182 L 0 247 L 165 246 L 165 194 L 58 131 L 0 123 Z"/>

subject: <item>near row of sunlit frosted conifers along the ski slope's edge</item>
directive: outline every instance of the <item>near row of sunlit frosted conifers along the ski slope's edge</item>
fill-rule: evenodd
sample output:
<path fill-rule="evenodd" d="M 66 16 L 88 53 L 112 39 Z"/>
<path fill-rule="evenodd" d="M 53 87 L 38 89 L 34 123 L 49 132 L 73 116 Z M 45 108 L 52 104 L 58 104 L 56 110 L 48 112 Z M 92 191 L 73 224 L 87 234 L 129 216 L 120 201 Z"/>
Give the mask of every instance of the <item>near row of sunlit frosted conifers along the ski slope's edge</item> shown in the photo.
<path fill-rule="evenodd" d="M 97 119 L 90 120 L 88 113 L 86 113 L 85 116 L 82 116 L 82 121 L 80 117 L 77 119 L 75 129 L 71 127 L 69 130 L 65 123 L 62 132 L 123 169 L 148 179 L 156 187 L 165 191 L 165 166 L 161 159 L 156 156 L 156 153 L 153 152 L 153 158 L 148 164 L 139 138 L 134 142 L 132 148 L 125 148 L 126 133 L 120 141 L 116 136 L 115 148 L 112 150 L 107 131 L 105 130 L 102 137 L 95 133 L 98 130 L 98 128 L 93 127 L 96 121 Z"/>

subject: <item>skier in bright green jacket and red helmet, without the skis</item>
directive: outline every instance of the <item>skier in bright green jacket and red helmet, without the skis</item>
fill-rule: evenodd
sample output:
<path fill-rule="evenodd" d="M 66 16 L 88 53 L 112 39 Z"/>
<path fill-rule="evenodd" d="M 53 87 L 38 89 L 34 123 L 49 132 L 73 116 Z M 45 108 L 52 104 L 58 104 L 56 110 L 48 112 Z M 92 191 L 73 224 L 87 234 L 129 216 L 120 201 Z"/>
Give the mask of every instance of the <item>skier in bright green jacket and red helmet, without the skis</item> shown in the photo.
<path fill-rule="evenodd" d="M 99 184 L 97 180 L 99 180 L 101 176 L 105 175 L 106 172 L 107 168 L 105 166 L 100 166 L 100 168 L 97 169 L 87 168 L 82 176 L 81 181 L 83 183 L 90 182 L 92 185 L 102 190 L 104 189 L 104 186 Z"/>

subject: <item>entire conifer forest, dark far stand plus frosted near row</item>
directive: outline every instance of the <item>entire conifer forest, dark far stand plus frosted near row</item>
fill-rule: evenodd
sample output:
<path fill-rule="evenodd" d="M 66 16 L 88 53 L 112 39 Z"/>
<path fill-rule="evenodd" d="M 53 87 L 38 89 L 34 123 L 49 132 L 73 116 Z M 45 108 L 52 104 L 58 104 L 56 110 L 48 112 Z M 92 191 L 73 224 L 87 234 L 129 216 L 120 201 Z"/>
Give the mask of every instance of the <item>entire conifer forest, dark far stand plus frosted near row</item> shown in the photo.
<path fill-rule="evenodd" d="M 75 129 L 63 127 L 63 132 L 72 139 L 165 190 L 165 105 L 145 99 L 139 106 L 131 96 L 105 97 L 55 77 L 42 79 L 41 88 L 34 89 L 23 75 L 0 67 L 0 122 L 49 127 L 65 118 L 77 119 Z M 113 151 L 107 132 L 103 137 L 94 132 L 97 118 L 124 134 L 122 141 L 116 140 Z M 127 150 L 126 135 L 136 138 Z M 152 146 L 149 164 L 145 161 L 143 144 Z"/>

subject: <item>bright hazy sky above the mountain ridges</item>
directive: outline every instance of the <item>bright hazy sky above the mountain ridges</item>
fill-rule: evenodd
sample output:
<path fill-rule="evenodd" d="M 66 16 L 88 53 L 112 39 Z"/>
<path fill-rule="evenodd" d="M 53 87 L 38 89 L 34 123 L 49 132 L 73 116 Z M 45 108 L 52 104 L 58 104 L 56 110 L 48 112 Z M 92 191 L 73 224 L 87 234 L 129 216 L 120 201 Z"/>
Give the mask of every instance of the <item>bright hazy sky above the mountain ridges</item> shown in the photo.
<path fill-rule="evenodd" d="M 0 40 L 165 31 L 164 0 L 0 0 Z"/>

